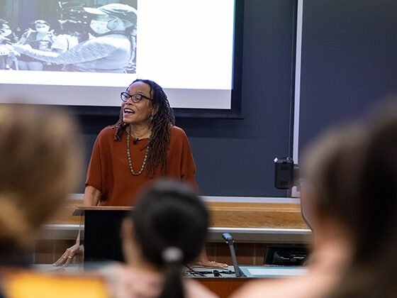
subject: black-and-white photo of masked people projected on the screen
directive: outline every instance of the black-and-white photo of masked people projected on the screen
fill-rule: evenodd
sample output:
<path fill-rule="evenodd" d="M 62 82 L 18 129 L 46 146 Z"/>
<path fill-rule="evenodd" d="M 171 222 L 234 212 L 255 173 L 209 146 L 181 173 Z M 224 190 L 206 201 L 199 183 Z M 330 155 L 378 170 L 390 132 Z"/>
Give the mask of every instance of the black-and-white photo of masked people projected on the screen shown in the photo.
<path fill-rule="evenodd" d="M 1 70 L 136 72 L 136 0 L 2 2 Z"/>

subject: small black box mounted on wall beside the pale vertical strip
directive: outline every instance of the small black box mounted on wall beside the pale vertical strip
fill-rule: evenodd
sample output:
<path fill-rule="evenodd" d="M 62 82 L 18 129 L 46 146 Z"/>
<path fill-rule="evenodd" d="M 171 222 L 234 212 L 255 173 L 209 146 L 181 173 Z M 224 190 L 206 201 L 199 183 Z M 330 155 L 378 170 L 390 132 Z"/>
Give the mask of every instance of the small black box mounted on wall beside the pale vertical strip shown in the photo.
<path fill-rule="evenodd" d="M 291 189 L 296 186 L 299 166 L 292 158 L 274 158 L 274 187 L 277 189 Z"/>

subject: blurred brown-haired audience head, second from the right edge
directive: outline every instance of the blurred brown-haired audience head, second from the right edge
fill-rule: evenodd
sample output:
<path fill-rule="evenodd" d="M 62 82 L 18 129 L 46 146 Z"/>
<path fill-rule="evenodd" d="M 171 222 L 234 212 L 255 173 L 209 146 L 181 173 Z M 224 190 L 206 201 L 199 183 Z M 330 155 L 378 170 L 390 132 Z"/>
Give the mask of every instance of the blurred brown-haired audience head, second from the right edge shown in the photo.
<path fill-rule="evenodd" d="M 314 232 L 328 221 L 345 223 L 350 208 L 357 204 L 347 192 L 354 182 L 345 167 L 354 162 L 356 155 L 350 153 L 361 141 L 362 130 L 358 125 L 335 126 L 305 150 L 301 205 L 303 217 Z"/>

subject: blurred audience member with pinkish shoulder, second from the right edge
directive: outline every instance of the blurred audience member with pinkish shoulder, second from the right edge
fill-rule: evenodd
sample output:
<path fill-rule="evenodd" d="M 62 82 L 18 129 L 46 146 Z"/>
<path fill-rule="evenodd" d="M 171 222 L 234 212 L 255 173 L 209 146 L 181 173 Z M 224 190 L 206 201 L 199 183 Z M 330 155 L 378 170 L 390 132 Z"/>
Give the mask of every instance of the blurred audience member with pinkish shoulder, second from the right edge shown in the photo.
<path fill-rule="evenodd" d="M 303 213 L 313 230 L 313 251 L 306 275 L 251 282 L 235 292 L 233 298 L 318 298 L 335 285 L 342 268 L 350 259 L 351 248 L 345 228 L 333 210 L 324 207 L 332 204 L 334 197 L 340 195 L 337 193 L 340 189 L 334 184 L 335 178 L 339 177 L 342 170 L 341 160 L 345 156 L 345 148 L 350 146 L 354 136 L 354 133 L 345 129 L 330 131 L 308 153 L 307 162 L 311 164 L 310 167 L 313 166 L 310 172 L 315 173 L 316 179 L 312 181 L 310 175 L 308 181 L 312 183 L 301 184 Z M 305 165 L 306 162 L 303 167 Z"/>

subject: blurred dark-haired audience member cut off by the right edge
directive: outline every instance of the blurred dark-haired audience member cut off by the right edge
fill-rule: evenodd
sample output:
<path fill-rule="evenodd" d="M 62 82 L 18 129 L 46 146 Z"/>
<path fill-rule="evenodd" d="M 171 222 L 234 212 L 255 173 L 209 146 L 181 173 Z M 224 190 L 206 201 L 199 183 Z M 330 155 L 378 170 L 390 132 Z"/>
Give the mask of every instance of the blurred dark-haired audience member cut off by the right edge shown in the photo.
<path fill-rule="evenodd" d="M 382 106 L 366 124 L 341 214 L 352 258 L 330 298 L 397 297 L 397 104 Z"/>

